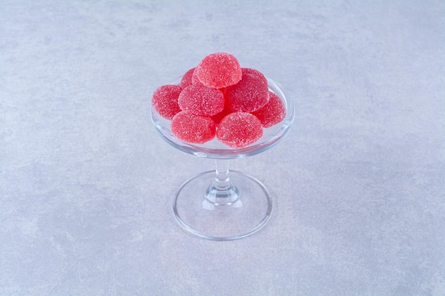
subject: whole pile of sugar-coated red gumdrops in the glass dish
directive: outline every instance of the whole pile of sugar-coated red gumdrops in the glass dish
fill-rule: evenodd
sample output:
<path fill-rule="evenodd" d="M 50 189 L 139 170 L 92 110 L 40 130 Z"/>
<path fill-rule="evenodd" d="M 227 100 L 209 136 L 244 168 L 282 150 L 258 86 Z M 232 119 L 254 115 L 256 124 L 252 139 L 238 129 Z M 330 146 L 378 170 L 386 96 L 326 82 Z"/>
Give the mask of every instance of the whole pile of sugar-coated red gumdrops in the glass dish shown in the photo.
<path fill-rule="evenodd" d="M 269 91 L 258 70 L 242 68 L 229 53 L 213 53 L 188 70 L 180 84 L 154 91 L 151 104 L 171 120 L 171 133 L 188 143 L 218 140 L 232 148 L 261 138 L 262 128 L 286 116 L 282 100 Z"/>

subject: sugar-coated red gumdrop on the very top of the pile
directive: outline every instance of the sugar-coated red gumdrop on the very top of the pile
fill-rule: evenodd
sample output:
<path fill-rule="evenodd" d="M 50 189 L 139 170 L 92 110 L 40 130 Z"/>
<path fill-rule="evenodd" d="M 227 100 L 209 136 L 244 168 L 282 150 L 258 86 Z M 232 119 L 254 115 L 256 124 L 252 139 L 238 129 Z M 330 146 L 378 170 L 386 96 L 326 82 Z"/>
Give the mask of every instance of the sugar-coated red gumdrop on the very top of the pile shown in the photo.
<path fill-rule="evenodd" d="M 196 67 L 196 75 L 205 86 L 220 89 L 236 84 L 241 80 L 241 66 L 230 53 L 207 55 Z"/>

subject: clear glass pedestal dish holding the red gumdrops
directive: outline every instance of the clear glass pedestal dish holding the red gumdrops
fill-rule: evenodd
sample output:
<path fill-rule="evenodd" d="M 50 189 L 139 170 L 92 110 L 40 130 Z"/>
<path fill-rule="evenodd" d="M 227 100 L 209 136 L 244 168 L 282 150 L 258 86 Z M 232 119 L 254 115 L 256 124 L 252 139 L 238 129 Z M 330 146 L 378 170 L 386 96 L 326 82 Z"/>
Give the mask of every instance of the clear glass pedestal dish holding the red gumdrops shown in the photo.
<path fill-rule="evenodd" d="M 173 82 L 177 84 L 181 79 Z M 173 198 L 173 215 L 179 225 L 196 236 L 232 240 L 254 234 L 272 214 L 272 197 L 255 177 L 229 170 L 230 160 L 262 153 L 275 146 L 289 132 L 294 106 L 277 82 L 267 78 L 269 90 L 282 99 L 286 108 L 283 121 L 263 128 L 259 141 L 244 148 L 230 148 L 217 138 L 204 144 L 186 143 L 170 130 L 170 121 L 151 108 L 151 120 L 161 138 L 174 148 L 202 158 L 213 158 L 215 170 L 202 172 L 183 182 Z"/>

